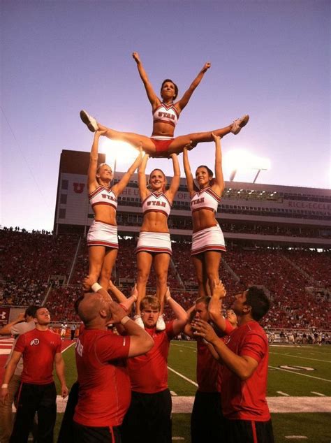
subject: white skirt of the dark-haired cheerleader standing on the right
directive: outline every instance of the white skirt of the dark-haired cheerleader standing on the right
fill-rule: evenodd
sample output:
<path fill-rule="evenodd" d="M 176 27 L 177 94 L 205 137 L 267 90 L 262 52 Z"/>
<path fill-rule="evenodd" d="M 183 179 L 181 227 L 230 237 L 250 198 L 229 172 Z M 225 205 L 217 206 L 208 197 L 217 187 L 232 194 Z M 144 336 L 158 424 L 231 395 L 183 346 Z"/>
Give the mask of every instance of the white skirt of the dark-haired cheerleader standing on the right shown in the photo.
<path fill-rule="evenodd" d="M 206 251 L 226 251 L 223 232 L 219 224 L 192 235 L 191 255 L 203 254 Z"/>

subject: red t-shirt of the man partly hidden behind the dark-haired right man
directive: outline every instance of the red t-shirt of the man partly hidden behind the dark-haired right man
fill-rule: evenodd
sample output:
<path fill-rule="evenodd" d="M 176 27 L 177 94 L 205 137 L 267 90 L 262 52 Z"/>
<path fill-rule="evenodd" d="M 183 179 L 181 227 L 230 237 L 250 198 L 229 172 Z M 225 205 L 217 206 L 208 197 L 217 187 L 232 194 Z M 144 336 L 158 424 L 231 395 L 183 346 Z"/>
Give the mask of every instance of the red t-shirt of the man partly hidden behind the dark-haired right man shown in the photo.
<path fill-rule="evenodd" d="M 226 320 L 226 331 L 224 335 L 229 335 L 233 331 L 230 321 Z M 196 379 L 200 392 L 221 392 L 222 365 L 210 354 L 207 345 L 200 338 L 196 342 L 197 361 Z"/>

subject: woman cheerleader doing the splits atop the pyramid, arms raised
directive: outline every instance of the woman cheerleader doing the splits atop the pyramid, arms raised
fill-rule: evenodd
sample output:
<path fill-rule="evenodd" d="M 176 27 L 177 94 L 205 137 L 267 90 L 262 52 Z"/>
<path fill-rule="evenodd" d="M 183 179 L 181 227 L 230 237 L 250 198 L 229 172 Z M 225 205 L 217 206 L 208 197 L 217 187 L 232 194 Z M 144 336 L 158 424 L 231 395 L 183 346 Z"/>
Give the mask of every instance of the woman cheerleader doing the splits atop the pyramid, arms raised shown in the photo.
<path fill-rule="evenodd" d="M 147 73 L 142 66 L 137 52 L 133 52 L 133 59 L 135 59 L 137 63 L 140 78 L 145 86 L 149 102 L 152 105 L 153 133 L 151 138 L 136 133 L 119 132 L 107 128 L 96 122 L 94 117 L 91 117 L 86 111 L 82 110 L 80 111 L 80 118 L 85 124 L 87 124 L 90 131 L 105 131 L 104 135 L 106 137 L 113 140 L 125 141 L 133 145 L 133 147 L 139 147 L 140 143 L 142 143 L 145 152 L 151 157 L 169 157 L 170 154 L 179 154 L 187 145 L 190 145 L 190 149 L 192 149 L 198 143 L 211 142 L 213 140 L 212 132 L 219 137 L 226 136 L 226 134 L 230 132 L 237 134 L 249 121 L 249 115 L 244 115 L 222 129 L 214 129 L 214 131 L 197 132 L 186 136 L 174 137 L 175 126 L 179 115 L 187 103 L 189 103 L 189 99 L 191 99 L 191 95 L 203 79 L 203 75 L 205 75 L 207 69 L 210 68 L 210 63 L 206 63 L 205 66 L 203 66 L 202 70 L 191 83 L 189 89 L 187 89 L 182 96 L 182 99 L 174 103 L 178 94 L 177 85 L 175 85 L 170 79 L 164 80 L 161 85 L 162 100 L 159 99 L 149 82 Z"/>

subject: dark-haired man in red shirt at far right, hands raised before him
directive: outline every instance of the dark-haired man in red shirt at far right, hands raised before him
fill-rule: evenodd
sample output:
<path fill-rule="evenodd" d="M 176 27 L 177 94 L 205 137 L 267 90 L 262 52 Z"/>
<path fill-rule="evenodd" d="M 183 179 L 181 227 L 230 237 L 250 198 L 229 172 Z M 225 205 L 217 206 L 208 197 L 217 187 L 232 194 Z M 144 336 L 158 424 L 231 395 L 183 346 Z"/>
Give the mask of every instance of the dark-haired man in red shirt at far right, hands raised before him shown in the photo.
<path fill-rule="evenodd" d="M 224 343 L 202 320 L 194 324 L 196 335 L 211 343 L 223 362 L 222 409 L 227 443 L 274 443 L 267 406 L 267 336 L 258 321 L 270 308 L 262 289 L 251 286 L 237 294 L 232 305 L 239 327 Z"/>

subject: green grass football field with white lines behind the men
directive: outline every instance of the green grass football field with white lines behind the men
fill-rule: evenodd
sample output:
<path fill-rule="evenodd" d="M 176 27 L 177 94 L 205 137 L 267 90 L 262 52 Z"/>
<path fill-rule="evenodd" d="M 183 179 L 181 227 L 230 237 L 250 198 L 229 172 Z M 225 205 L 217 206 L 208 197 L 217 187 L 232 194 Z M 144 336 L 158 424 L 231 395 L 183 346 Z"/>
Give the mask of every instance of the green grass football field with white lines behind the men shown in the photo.
<path fill-rule="evenodd" d="M 66 362 L 66 379 L 70 387 L 76 379 L 75 353 L 71 347 L 64 352 Z M 270 347 L 270 371 L 268 375 L 268 396 L 281 396 L 287 393 L 290 396 L 312 396 L 318 392 L 331 396 L 330 379 L 331 347 L 302 346 Z M 196 382 L 196 344 L 195 342 L 172 342 L 168 365 L 173 370 Z M 281 370 L 280 366 L 290 366 L 293 372 Z M 311 368 L 312 370 L 297 370 L 294 367 Z M 276 369 L 274 369 L 276 368 Z M 312 378 L 316 377 L 316 378 Z M 55 377 L 56 378 L 56 377 Z M 196 386 L 191 382 L 169 371 L 169 388 L 177 395 L 191 396 L 196 393 Z M 290 402 L 288 397 L 288 402 Z M 62 414 L 57 416 L 55 437 L 59 432 Z M 328 413 L 290 413 L 272 414 L 274 436 L 277 443 L 297 441 L 286 436 L 303 436 L 300 440 L 310 443 L 330 443 L 331 414 Z M 182 443 L 190 443 L 190 414 L 172 414 L 172 435 L 181 437 Z"/>

